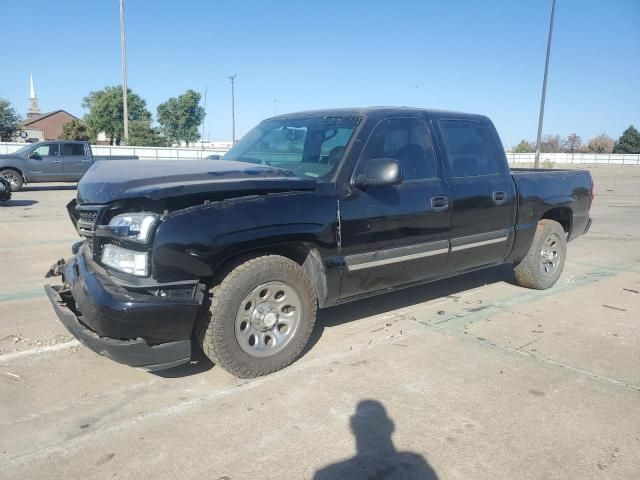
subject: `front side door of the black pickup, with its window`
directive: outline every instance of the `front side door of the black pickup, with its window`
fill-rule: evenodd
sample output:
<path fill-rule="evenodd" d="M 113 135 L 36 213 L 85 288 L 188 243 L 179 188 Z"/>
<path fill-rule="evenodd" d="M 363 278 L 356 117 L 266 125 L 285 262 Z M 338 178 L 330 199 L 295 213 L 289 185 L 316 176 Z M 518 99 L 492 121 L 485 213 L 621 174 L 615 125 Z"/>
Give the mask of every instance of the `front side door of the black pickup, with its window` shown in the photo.
<path fill-rule="evenodd" d="M 419 282 L 446 268 L 449 191 L 425 119 L 380 121 L 352 178 L 377 158 L 395 159 L 403 181 L 352 188 L 340 199 L 342 298 Z"/>

